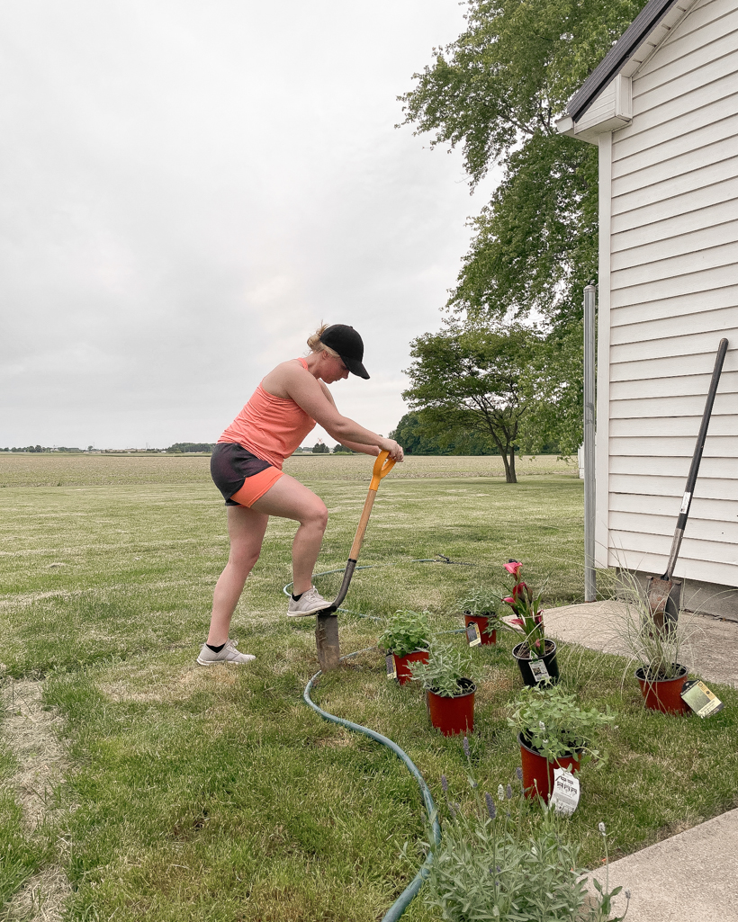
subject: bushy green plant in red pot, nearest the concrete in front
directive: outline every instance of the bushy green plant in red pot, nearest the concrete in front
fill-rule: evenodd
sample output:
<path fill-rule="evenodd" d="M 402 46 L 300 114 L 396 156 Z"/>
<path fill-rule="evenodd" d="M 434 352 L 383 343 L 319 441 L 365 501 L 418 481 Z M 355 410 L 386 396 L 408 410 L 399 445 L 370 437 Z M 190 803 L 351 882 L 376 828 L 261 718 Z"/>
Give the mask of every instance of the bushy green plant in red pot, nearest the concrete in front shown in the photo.
<path fill-rule="evenodd" d="M 582 709 L 575 695 L 549 684 L 523 689 L 508 710 L 507 724 L 518 731 L 526 796 L 545 803 L 553 789 L 553 769 L 578 772 L 583 762 L 598 756 L 592 749 L 597 731 L 615 719 L 609 709 L 604 714 Z"/>

